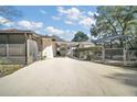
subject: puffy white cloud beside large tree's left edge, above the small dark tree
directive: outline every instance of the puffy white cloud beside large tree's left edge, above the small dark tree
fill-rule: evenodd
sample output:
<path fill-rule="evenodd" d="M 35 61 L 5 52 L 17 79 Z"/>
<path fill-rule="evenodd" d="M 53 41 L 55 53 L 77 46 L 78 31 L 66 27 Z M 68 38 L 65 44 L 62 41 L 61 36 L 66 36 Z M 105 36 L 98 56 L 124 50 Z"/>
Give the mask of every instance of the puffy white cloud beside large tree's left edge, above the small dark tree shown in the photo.
<path fill-rule="evenodd" d="M 96 20 L 93 18 L 85 18 L 78 22 L 80 25 L 83 25 L 85 27 L 89 27 L 92 24 L 95 24 L 95 23 L 96 23 Z"/>

